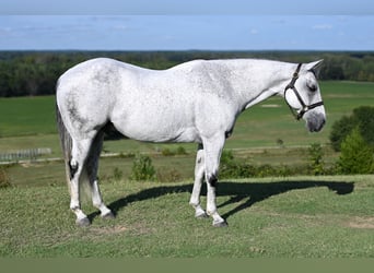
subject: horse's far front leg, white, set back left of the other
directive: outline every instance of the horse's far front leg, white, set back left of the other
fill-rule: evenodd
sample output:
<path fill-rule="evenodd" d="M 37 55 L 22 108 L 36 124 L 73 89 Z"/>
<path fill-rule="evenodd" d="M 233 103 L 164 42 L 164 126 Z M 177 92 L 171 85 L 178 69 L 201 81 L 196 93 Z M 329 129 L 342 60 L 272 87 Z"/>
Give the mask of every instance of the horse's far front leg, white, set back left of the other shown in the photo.
<path fill-rule="evenodd" d="M 196 164 L 195 164 L 195 181 L 192 194 L 189 200 L 189 204 L 195 209 L 195 217 L 197 218 L 206 218 L 208 217 L 207 213 L 202 210 L 200 205 L 200 192 L 202 186 L 202 179 L 204 174 L 204 155 L 203 155 L 203 146 L 199 144 L 198 151 L 196 154 Z"/>

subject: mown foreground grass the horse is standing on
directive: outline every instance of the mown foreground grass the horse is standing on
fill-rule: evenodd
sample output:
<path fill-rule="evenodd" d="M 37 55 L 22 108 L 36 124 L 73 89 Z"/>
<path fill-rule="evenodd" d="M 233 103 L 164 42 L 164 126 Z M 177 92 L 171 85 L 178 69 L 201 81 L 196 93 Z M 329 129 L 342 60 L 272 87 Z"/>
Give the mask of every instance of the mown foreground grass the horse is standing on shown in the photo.
<path fill-rule="evenodd" d="M 229 228 L 195 219 L 191 183 L 104 181 L 117 214 L 78 228 L 65 186 L 0 190 L 1 257 L 373 258 L 374 176 L 221 181 Z M 206 201 L 206 198 L 202 198 Z"/>

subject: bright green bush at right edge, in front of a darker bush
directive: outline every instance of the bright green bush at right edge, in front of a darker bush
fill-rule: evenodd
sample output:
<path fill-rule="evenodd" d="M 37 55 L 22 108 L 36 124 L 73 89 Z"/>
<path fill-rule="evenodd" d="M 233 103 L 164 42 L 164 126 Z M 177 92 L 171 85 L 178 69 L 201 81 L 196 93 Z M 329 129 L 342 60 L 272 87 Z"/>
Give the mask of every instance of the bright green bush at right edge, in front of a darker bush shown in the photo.
<path fill-rule="evenodd" d="M 337 162 L 341 174 L 374 173 L 374 149 L 363 139 L 358 128 L 341 143 L 341 154 Z"/>

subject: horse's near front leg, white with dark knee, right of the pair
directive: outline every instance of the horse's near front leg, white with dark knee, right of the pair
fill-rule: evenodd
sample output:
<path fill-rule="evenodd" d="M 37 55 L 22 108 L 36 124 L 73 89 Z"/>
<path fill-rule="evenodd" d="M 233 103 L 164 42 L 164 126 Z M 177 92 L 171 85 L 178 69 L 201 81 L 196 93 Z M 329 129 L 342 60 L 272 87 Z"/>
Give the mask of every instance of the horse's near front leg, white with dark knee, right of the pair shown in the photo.
<path fill-rule="evenodd" d="M 214 138 L 203 142 L 207 181 L 207 214 L 213 217 L 214 227 L 227 226 L 227 223 L 220 216 L 215 204 L 215 190 L 218 185 L 218 173 L 220 158 L 224 145 L 224 134 L 217 134 Z"/>

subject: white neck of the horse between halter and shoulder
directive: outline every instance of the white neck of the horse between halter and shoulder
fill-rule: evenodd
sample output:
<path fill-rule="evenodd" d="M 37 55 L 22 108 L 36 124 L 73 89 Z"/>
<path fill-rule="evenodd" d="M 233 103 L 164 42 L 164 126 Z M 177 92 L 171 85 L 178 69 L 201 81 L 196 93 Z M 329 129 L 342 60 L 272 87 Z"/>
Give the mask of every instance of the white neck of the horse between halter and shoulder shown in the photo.
<path fill-rule="evenodd" d="M 244 110 L 273 95 L 283 95 L 292 79 L 294 63 L 238 59 L 226 61 L 231 70 L 227 81 L 237 97 L 239 110 Z"/>

